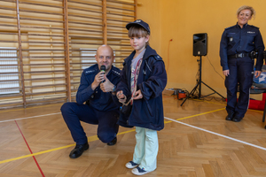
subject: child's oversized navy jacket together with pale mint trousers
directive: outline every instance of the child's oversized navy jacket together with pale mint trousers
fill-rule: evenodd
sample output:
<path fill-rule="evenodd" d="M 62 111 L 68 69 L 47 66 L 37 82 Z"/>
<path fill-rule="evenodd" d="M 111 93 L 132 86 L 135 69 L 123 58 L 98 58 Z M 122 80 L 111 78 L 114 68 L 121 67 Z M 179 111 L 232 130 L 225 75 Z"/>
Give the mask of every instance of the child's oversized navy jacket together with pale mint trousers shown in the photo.
<path fill-rule="evenodd" d="M 130 76 L 131 61 L 134 50 L 124 60 L 121 71 L 121 82 L 117 91 L 122 90 L 127 97 L 131 96 Z M 167 84 L 167 73 L 162 58 L 149 45 L 146 46 L 142 64 L 137 77 L 137 90 L 141 90 L 142 99 L 133 101 L 129 115 L 121 113 L 118 124 L 123 127 L 136 127 L 137 144 L 134 150 L 133 162 L 139 164 L 145 171 L 156 169 L 158 153 L 158 136 L 156 130 L 164 127 L 162 91 Z"/>

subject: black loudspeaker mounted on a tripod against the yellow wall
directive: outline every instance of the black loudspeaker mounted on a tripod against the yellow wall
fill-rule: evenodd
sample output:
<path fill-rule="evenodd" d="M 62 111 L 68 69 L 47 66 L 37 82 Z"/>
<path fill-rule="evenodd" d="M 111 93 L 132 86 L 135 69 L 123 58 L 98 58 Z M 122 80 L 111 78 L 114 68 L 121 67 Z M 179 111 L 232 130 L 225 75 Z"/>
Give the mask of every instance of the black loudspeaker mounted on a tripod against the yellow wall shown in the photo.
<path fill-rule="evenodd" d="M 207 33 L 193 35 L 193 56 L 207 55 Z"/>

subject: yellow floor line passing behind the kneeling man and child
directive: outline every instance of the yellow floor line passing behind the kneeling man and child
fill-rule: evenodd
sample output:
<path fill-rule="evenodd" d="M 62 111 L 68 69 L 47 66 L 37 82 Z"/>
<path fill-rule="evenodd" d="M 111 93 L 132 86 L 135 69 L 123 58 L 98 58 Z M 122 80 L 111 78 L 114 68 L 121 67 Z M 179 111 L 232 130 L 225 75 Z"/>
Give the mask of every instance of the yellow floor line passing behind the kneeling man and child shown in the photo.
<path fill-rule="evenodd" d="M 211 112 L 218 112 L 218 111 L 222 111 L 224 109 L 225 108 L 222 108 L 222 109 L 218 109 L 218 110 L 211 111 Z M 195 115 L 192 115 L 192 116 L 187 116 L 187 117 L 176 119 L 176 120 L 188 119 L 188 118 L 204 115 L 204 114 L 211 113 L 211 112 L 203 112 L 203 113 L 195 114 Z M 164 121 L 165 124 L 170 123 L 170 122 L 172 122 L 172 121 Z M 123 135 L 123 134 L 127 134 L 127 133 L 134 132 L 134 131 L 135 131 L 135 128 L 131 129 L 129 131 L 124 131 L 124 132 L 118 133 L 117 135 Z M 98 136 L 97 135 L 93 135 L 93 136 L 88 137 L 88 142 L 94 142 L 94 141 L 97 141 L 97 140 L 98 140 Z M 43 151 L 36 152 L 36 153 L 33 153 L 33 154 L 20 156 L 18 158 L 6 159 L 6 160 L 3 160 L 3 161 L 0 161 L 0 164 L 4 164 L 4 163 L 7 163 L 7 162 L 12 162 L 14 160 L 19 160 L 19 159 L 22 159 L 22 158 L 29 158 L 29 157 L 37 156 L 37 155 L 48 153 L 48 152 L 55 151 L 55 150 L 62 150 L 62 149 L 66 149 L 66 148 L 69 148 L 69 147 L 72 147 L 72 146 L 75 146 L 75 144 L 70 144 L 70 145 L 59 147 L 59 148 L 54 148 L 54 149 L 51 149 L 51 150 L 43 150 Z"/>

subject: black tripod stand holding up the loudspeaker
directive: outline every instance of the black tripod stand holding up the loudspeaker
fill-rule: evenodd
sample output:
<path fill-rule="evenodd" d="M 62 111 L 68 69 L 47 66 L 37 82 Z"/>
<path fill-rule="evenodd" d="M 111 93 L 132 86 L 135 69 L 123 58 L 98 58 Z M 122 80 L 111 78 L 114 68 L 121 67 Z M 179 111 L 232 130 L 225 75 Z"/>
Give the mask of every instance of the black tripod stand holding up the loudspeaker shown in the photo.
<path fill-rule="evenodd" d="M 208 89 L 211 89 L 214 91 L 214 93 L 211 93 L 207 96 L 211 96 L 213 94 L 218 94 L 219 96 L 223 97 L 221 94 L 219 94 L 218 92 L 215 91 L 215 89 L 212 89 L 211 87 L 209 87 L 206 83 L 204 83 L 202 80 L 201 80 L 201 65 L 202 65 L 202 58 L 200 56 L 200 59 L 197 60 L 198 62 L 200 62 L 200 68 L 199 68 L 199 73 L 200 73 L 200 76 L 199 76 L 199 79 L 197 80 L 197 85 L 194 87 L 194 89 L 192 89 L 191 93 L 185 97 L 184 99 L 184 102 L 187 100 L 188 97 L 192 96 L 195 91 L 199 88 L 199 96 L 196 97 L 196 99 L 200 99 L 200 98 L 203 98 L 203 97 L 206 97 L 206 96 L 201 96 L 201 83 L 203 83 L 205 86 L 207 86 Z M 225 99 L 225 97 L 223 97 L 223 99 Z M 181 106 L 184 104 L 184 102 L 181 104 Z"/>

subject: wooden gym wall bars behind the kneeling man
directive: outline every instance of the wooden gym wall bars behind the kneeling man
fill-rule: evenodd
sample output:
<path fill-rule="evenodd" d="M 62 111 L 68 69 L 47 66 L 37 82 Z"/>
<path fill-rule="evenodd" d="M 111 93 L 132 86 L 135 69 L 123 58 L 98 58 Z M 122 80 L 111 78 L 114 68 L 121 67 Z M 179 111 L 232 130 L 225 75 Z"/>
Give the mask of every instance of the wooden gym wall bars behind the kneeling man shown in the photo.
<path fill-rule="evenodd" d="M 110 45 L 131 52 L 134 0 L 0 0 L 0 108 L 74 101 L 82 70 Z"/>

